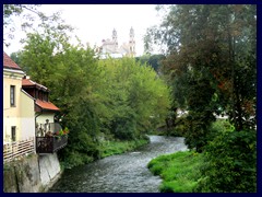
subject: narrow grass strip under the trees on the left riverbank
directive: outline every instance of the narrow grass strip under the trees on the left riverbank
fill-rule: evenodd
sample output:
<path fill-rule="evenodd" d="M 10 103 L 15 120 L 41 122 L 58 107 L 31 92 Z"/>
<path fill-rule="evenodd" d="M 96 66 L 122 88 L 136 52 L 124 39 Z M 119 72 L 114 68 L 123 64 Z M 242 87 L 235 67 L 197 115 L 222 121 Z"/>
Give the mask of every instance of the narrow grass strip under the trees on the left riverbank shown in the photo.
<path fill-rule="evenodd" d="M 121 154 L 134 150 L 138 147 L 148 143 L 148 140 L 133 140 L 133 141 L 108 141 L 104 142 L 100 147 L 102 158 L 106 158 L 114 154 Z"/>

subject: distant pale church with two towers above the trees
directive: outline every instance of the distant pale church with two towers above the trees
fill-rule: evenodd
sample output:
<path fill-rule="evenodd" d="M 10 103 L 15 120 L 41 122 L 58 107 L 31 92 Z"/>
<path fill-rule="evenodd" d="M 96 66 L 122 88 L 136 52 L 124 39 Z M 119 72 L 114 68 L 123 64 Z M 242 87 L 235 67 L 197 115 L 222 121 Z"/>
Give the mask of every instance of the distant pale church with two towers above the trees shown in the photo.
<path fill-rule="evenodd" d="M 121 57 L 135 57 L 135 40 L 133 27 L 130 28 L 129 42 L 123 43 L 120 47 L 118 45 L 117 31 L 112 31 L 112 39 L 103 39 L 102 46 L 98 47 L 98 53 L 102 58 L 106 58 L 108 55 L 114 58 Z"/>

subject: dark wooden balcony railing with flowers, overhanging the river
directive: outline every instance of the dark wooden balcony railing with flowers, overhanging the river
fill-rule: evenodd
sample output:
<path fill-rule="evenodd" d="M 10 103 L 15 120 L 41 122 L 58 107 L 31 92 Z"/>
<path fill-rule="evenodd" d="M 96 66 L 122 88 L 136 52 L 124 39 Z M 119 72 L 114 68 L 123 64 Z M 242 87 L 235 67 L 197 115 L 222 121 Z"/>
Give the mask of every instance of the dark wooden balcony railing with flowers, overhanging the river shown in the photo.
<path fill-rule="evenodd" d="M 68 144 L 68 136 L 36 137 L 36 153 L 55 153 Z"/>

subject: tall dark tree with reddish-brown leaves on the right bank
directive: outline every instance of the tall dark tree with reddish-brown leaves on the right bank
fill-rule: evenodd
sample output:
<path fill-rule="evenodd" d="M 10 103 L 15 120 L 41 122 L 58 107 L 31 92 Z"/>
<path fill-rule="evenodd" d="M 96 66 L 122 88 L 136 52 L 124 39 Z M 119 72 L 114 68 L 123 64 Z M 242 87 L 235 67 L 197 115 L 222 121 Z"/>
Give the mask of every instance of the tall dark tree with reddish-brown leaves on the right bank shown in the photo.
<path fill-rule="evenodd" d="M 168 48 L 162 71 L 175 103 L 198 126 L 187 132 L 190 147 L 199 144 L 192 134 L 205 138 L 213 114 L 228 114 L 237 130 L 255 125 L 255 5 L 170 5 L 148 31 Z M 203 116 L 205 131 L 194 124 Z"/>

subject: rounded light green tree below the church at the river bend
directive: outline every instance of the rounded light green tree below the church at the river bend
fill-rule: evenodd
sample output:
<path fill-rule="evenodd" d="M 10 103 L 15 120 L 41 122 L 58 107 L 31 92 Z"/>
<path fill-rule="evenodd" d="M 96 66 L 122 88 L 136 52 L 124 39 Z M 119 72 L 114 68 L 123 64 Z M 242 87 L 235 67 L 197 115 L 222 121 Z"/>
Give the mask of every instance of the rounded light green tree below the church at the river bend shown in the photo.
<path fill-rule="evenodd" d="M 110 109 L 107 128 L 118 138 L 135 139 L 162 124 L 169 107 L 168 89 L 146 65 L 134 59 L 100 61 L 107 71 Z M 109 78 L 109 79 L 108 79 Z"/>

